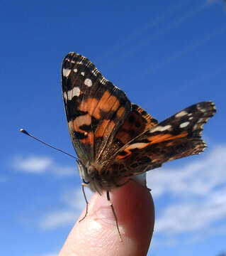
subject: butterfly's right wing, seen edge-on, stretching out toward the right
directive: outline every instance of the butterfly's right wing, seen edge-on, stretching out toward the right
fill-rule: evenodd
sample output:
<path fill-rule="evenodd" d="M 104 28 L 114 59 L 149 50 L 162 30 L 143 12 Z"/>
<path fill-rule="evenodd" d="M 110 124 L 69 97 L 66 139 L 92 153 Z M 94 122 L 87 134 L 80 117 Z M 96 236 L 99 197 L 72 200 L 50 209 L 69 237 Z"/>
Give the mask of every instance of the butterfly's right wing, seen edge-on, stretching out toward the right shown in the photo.
<path fill-rule="evenodd" d="M 131 176 L 166 161 L 199 154 L 206 147 L 200 139 L 203 125 L 215 111 L 213 102 L 187 107 L 123 146 L 111 165 L 118 175 Z"/>

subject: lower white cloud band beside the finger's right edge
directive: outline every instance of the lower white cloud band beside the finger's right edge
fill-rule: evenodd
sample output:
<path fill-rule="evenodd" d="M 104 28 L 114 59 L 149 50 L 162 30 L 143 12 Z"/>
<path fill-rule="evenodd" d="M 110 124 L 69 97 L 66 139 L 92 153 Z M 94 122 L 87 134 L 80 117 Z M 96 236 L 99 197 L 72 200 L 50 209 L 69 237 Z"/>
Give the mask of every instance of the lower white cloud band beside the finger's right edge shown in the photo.
<path fill-rule="evenodd" d="M 157 219 L 157 232 L 175 234 L 197 231 L 225 219 L 225 192 L 226 188 L 206 196 L 202 201 L 186 201 L 167 207 Z"/>

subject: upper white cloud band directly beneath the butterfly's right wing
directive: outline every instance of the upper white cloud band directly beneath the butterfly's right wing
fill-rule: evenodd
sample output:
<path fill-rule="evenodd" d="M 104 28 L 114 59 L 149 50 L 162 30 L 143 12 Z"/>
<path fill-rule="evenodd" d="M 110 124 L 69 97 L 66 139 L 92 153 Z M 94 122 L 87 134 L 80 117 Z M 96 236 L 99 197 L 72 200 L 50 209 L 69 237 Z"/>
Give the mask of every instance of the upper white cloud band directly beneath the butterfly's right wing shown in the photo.
<path fill-rule="evenodd" d="M 191 156 L 194 158 L 194 156 Z M 179 160 L 177 160 L 179 161 Z M 226 146 L 217 146 L 202 159 L 176 169 L 162 168 L 150 171 L 147 186 L 154 197 L 171 193 L 175 196 L 203 196 L 226 183 Z"/>

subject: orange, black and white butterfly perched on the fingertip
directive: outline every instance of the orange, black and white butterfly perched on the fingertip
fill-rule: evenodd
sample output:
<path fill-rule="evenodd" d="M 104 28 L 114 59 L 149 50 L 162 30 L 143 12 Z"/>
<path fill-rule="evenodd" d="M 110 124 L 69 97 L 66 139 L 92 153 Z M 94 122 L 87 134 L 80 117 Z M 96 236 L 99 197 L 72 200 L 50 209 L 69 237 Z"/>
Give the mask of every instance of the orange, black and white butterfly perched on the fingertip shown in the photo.
<path fill-rule="evenodd" d="M 109 202 L 123 178 L 200 154 L 203 125 L 216 112 L 213 102 L 200 102 L 159 123 L 78 53 L 62 62 L 62 94 L 83 185 L 106 191 Z"/>

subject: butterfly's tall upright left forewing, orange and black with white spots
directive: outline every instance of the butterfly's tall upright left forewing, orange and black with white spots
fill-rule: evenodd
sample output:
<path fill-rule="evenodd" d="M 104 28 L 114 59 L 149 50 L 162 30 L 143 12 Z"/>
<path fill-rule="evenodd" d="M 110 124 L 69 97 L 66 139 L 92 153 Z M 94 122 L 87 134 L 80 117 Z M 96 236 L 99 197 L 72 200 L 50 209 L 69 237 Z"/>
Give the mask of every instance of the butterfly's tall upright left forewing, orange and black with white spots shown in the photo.
<path fill-rule="evenodd" d="M 85 165 L 101 159 L 131 110 L 125 93 L 77 53 L 62 63 L 62 92 L 74 149 Z"/>

